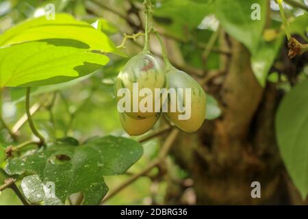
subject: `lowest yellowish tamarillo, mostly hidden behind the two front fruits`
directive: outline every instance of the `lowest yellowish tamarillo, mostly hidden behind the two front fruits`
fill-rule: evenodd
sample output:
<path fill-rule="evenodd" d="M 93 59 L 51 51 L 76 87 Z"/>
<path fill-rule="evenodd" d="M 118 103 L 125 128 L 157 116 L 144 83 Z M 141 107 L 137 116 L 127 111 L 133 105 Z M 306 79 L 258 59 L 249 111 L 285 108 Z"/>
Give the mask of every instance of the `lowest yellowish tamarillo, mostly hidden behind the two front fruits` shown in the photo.
<path fill-rule="evenodd" d="M 133 119 L 125 113 L 119 113 L 120 123 L 129 136 L 140 136 L 149 131 L 159 119 L 159 113 L 144 119 Z"/>

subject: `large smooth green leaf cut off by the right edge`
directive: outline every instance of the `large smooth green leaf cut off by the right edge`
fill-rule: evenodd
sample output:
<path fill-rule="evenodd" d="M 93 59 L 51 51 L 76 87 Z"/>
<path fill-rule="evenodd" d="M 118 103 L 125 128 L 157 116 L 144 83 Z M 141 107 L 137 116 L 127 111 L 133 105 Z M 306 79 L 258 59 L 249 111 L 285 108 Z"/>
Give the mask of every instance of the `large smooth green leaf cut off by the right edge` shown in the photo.
<path fill-rule="evenodd" d="M 308 194 L 308 79 L 283 99 L 276 116 L 281 157 L 303 200 Z"/>

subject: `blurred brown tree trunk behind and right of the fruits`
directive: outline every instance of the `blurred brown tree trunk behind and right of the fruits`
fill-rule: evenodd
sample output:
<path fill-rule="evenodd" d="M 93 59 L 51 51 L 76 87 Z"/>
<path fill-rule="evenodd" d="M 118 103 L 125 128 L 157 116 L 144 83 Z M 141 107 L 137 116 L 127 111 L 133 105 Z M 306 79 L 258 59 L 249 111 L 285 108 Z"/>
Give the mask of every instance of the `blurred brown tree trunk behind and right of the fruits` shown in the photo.
<path fill-rule="evenodd" d="M 176 161 L 194 180 L 197 203 L 293 202 L 294 187 L 285 177 L 274 136 L 277 89 L 259 86 L 250 54 L 235 40 L 231 40 L 231 60 L 215 96 L 222 104 L 222 116 L 206 121 L 197 133 L 181 133 L 173 147 Z M 253 181 L 261 183 L 261 198 L 251 197 Z M 171 196 L 167 195 L 167 203 L 168 199 Z"/>

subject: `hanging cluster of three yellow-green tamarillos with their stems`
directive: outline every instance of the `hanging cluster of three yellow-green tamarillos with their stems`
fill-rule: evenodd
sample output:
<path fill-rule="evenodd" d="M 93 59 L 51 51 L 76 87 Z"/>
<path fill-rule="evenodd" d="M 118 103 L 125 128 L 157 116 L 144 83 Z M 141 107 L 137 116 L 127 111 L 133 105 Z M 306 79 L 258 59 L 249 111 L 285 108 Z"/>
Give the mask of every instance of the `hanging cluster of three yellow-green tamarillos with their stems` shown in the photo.
<path fill-rule="evenodd" d="M 164 112 L 163 110 L 160 110 L 160 112 L 142 112 L 142 110 L 138 110 L 136 112 L 135 110 L 134 112 L 132 109 L 134 97 L 131 95 L 131 110 L 129 112 L 119 112 L 120 123 L 123 129 L 130 136 L 139 136 L 149 131 L 155 123 L 157 123 L 159 117 L 164 114 L 166 119 L 179 127 L 179 129 L 186 132 L 196 131 L 201 127 L 206 116 L 205 91 L 190 75 L 170 64 L 166 55 L 164 42 L 162 42 L 162 39 L 155 31 L 154 33 L 156 34 L 159 42 L 162 44 L 165 68 L 162 68 L 156 58 L 149 51 L 149 36 L 147 36 L 149 33 L 146 33 L 144 50 L 138 55 L 131 57 L 131 59 L 120 71 L 115 82 L 115 92 L 117 94 L 118 90 L 121 88 L 126 88 L 129 92 L 131 92 L 131 94 L 133 94 L 133 84 L 136 86 L 136 83 L 138 83 L 138 90 L 148 88 L 148 90 L 151 90 L 152 94 L 155 93 L 155 88 L 166 88 L 167 90 L 174 88 L 176 92 L 178 92 L 179 88 L 182 88 L 182 90 L 190 88 L 190 103 L 185 103 L 185 92 L 176 94 L 176 96 L 180 96 L 180 99 L 182 100 L 181 104 L 183 104 L 183 106 L 190 104 L 190 118 L 185 120 L 179 119 L 179 115 L 183 114 L 183 112 L 179 111 L 179 107 L 176 107 L 177 110 L 175 111 L 170 110 L 170 104 L 168 105 L 167 112 L 166 110 L 164 110 Z M 140 95 L 138 96 L 138 107 L 140 106 L 139 103 L 143 98 L 144 97 Z M 120 101 L 119 97 L 118 101 Z M 159 104 L 161 109 L 164 103 L 167 101 L 170 102 L 168 98 L 160 101 L 161 103 Z M 177 101 L 179 101 L 179 99 L 177 99 Z M 155 98 L 153 98 L 153 105 L 155 105 L 154 102 Z"/>

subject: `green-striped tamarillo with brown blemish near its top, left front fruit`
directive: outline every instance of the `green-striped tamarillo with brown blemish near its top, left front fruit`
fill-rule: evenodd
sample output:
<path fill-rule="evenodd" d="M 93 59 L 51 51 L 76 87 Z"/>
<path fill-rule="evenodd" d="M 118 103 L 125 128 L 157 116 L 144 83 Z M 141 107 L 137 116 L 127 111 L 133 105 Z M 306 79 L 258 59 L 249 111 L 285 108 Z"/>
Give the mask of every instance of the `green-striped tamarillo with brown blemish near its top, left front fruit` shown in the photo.
<path fill-rule="evenodd" d="M 129 89 L 131 94 L 131 104 L 129 112 L 125 112 L 127 116 L 135 119 L 144 119 L 155 116 L 155 111 L 152 112 L 142 112 L 140 109 L 140 103 L 144 104 L 142 99 L 145 99 L 147 94 L 144 96 L 136 95 L 133 92 L 133 83 L 138 83 L 138 90 L 142 88 L 149 88 L 152 94 L 155 93 L 155 88 L 163 88 L 165 84 L 165 74 L 164 70 L 162 70 L 161 66 L 159 66 L 158 62 L 155 60 L 155 57 L 150 55 L 149 53 L 140 53 L 134 57 L 132 57 L 127 64 L 125 64 L 124 68 L 120 71 L 116 83 L 115 89 L 116 94 L 121 88 Z M 118 96 L 118 95 L 117 95 Z M 118 96 L 118 101 L 122 98 L 122 96 Z M 134 98 L 138 99 L 137 101 L 133 101 Z M 155 98 L 151 98 L 153 100 L 153 106 L 155 105 Z M 134 103 L 138 103 L 134 105 Z"/>

